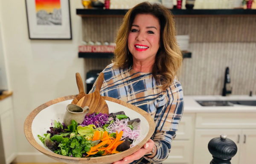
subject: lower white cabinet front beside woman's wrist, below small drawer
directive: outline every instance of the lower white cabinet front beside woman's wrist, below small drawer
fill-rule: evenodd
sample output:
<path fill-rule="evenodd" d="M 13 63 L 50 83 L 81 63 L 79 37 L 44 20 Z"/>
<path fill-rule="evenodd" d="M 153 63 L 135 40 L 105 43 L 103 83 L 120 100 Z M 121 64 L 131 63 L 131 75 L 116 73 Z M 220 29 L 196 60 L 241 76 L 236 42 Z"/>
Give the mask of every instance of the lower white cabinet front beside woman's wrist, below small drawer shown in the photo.
<path fill-rule="evenodd" d="M 172 141 L 172 149 L 163 164 L 192 164 L 192 142 L 189 140 Z"/>

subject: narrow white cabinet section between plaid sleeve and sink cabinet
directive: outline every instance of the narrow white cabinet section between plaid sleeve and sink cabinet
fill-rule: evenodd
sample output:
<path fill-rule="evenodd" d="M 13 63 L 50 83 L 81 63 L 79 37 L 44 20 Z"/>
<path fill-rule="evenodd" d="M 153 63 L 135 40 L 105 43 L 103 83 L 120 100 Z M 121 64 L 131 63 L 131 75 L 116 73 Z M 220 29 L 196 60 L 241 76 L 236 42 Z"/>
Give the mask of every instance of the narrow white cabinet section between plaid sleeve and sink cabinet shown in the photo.
<path fill-rule="evenodd" d="M 183 114 L 172 148 L 163 164 L 192 164 L 193 142 L 195 129 L 195 114 Z"/>

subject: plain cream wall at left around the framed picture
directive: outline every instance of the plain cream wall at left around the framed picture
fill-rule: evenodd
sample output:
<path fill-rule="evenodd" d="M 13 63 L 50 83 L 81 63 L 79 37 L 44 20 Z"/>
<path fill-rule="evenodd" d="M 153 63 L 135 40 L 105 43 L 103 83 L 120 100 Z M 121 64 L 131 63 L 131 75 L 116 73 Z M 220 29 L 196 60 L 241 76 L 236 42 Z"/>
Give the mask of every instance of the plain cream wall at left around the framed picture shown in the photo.
<path fill-rule="evenodd" d="M 0 0 L 3 53 L 13 91 L 17 162 L 54 161 L 29 144 L 23 124 L 39 105 L 78 93 L 75 73 L 84 78 L 84 61 L 78 58 L 82 29 L 76 8 L 82 8 L 81 1 L 70 0 L 73 40 L 29 40 L 25 0 Z M 2 62 L 2 55 L 0 59 Z"/>

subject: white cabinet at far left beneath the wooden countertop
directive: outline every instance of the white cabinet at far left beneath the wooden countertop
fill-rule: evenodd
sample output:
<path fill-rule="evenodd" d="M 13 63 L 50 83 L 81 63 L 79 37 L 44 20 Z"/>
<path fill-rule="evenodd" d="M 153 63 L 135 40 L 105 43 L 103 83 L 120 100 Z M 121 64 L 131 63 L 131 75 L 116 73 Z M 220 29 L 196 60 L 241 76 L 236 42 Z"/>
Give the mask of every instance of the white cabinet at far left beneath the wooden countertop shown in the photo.
<path fill-rule="evenodd" d="M 10 164 L 17 156 L 12 97 L 0 100 L 0 164 Z"/>

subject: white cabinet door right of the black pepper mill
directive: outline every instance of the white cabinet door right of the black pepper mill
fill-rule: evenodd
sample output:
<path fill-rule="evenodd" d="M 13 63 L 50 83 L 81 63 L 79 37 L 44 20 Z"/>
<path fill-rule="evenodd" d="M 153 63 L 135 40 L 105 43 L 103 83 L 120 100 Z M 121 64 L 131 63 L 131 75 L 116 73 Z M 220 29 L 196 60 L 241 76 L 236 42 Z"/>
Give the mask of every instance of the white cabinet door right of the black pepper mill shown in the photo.
<path fill-rule="evenodd" d="M 256 130 L 242 130 L 240 164 L 255 164 Z"/>

